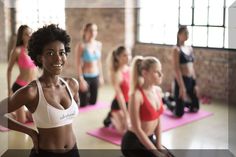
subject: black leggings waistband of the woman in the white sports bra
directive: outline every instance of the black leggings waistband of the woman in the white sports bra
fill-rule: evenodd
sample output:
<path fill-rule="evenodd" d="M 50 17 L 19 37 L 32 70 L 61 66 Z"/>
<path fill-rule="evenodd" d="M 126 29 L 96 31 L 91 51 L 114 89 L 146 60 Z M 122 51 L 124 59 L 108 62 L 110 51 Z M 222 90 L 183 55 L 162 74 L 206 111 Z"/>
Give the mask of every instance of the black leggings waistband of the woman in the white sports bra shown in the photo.
<path fill-rule="evenodd" d="M 29 157 L 79 157 L 79 156 L 80 156 L 79 151 L 77 145 L 75 144 L 75 146 L 71 150 L 65 153 L 55 153 L 49 150 L 42 150 L 42 149 L 39 149 L 38 153 L 36 153 L 35 149 L 32 148 Z"/>

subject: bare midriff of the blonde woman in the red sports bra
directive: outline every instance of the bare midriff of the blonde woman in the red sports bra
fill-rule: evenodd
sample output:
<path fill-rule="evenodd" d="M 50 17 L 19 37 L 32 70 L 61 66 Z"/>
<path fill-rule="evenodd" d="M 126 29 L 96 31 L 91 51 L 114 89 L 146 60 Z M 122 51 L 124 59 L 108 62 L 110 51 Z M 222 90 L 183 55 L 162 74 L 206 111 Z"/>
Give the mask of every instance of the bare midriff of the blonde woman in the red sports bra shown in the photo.
<path fill-rule="evenodd" d="M 147 121 L 147 122 L 142 121 L 141 122 L 141 128 L 148 136 L 154 134 L 157 125 L 158 125 L 158 120 L 156 120 L 156 119 L 152 120 L 152 121 Z M 132 127 L 129 130 L 134 132 L 134 129 Z"/>

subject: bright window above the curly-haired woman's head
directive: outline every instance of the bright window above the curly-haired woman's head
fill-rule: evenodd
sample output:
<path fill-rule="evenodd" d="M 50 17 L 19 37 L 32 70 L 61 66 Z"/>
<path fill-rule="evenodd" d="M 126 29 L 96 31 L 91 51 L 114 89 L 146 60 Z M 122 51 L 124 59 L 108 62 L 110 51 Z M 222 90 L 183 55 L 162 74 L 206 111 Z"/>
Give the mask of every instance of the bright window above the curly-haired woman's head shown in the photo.
<path fill-rule="evenodd" d="M 55 5 L 56 4 L 56 5 Z M 64 0 L 18 0 L 16 1 L 16 29 L 28 25 L 33 30 L 45 24 L 59 24 L 65 28 Z"/>

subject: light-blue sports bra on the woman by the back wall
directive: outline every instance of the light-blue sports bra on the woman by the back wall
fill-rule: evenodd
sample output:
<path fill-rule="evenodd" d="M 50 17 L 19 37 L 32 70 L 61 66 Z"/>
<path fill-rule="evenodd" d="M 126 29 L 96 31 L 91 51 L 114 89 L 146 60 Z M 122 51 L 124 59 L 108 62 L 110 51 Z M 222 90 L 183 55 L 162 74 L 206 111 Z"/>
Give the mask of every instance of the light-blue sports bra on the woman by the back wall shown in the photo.
<path fill-rule="evenodd" d="M 99 60 L 101 57 L 101 52 L 97 46 L 97 48 L 94 50 L 94 52 L 90 52 L 87 48 L 87 46 L 85 46 L 84 51 L 83 51 L 83 55 L 82 58 L 85 62 L 92 62 L 92 61 L 96 61 Z"/>

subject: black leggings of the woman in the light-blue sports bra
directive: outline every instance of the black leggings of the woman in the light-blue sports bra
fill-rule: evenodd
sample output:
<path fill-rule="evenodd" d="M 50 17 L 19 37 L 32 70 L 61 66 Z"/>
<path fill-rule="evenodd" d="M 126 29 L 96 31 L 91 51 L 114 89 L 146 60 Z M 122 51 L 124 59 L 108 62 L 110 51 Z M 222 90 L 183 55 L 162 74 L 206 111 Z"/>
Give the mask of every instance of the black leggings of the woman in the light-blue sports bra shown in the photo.
<path fill-rule="evenodd" d="M 84 77 L 85 81 L 88 83 L 88 90 L 85 92 L 79 91 L 80 106 L 86 106 L 88 104 L 94 105 L 97 101 L 98 95 L 98 83 L 99 76 L 97 77 Z"/>

